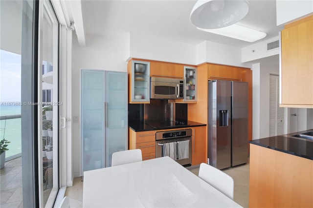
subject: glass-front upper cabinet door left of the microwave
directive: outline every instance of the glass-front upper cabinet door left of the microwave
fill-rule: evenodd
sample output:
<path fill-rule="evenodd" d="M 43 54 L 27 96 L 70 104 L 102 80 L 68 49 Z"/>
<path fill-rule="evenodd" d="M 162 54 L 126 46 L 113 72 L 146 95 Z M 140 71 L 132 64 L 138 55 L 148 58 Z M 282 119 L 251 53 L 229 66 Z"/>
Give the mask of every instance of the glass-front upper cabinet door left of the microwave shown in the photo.
<path fill-rule="evenodd" d="M 150 62 L 132 60 L 131 102 L 150 102 Z"/>

